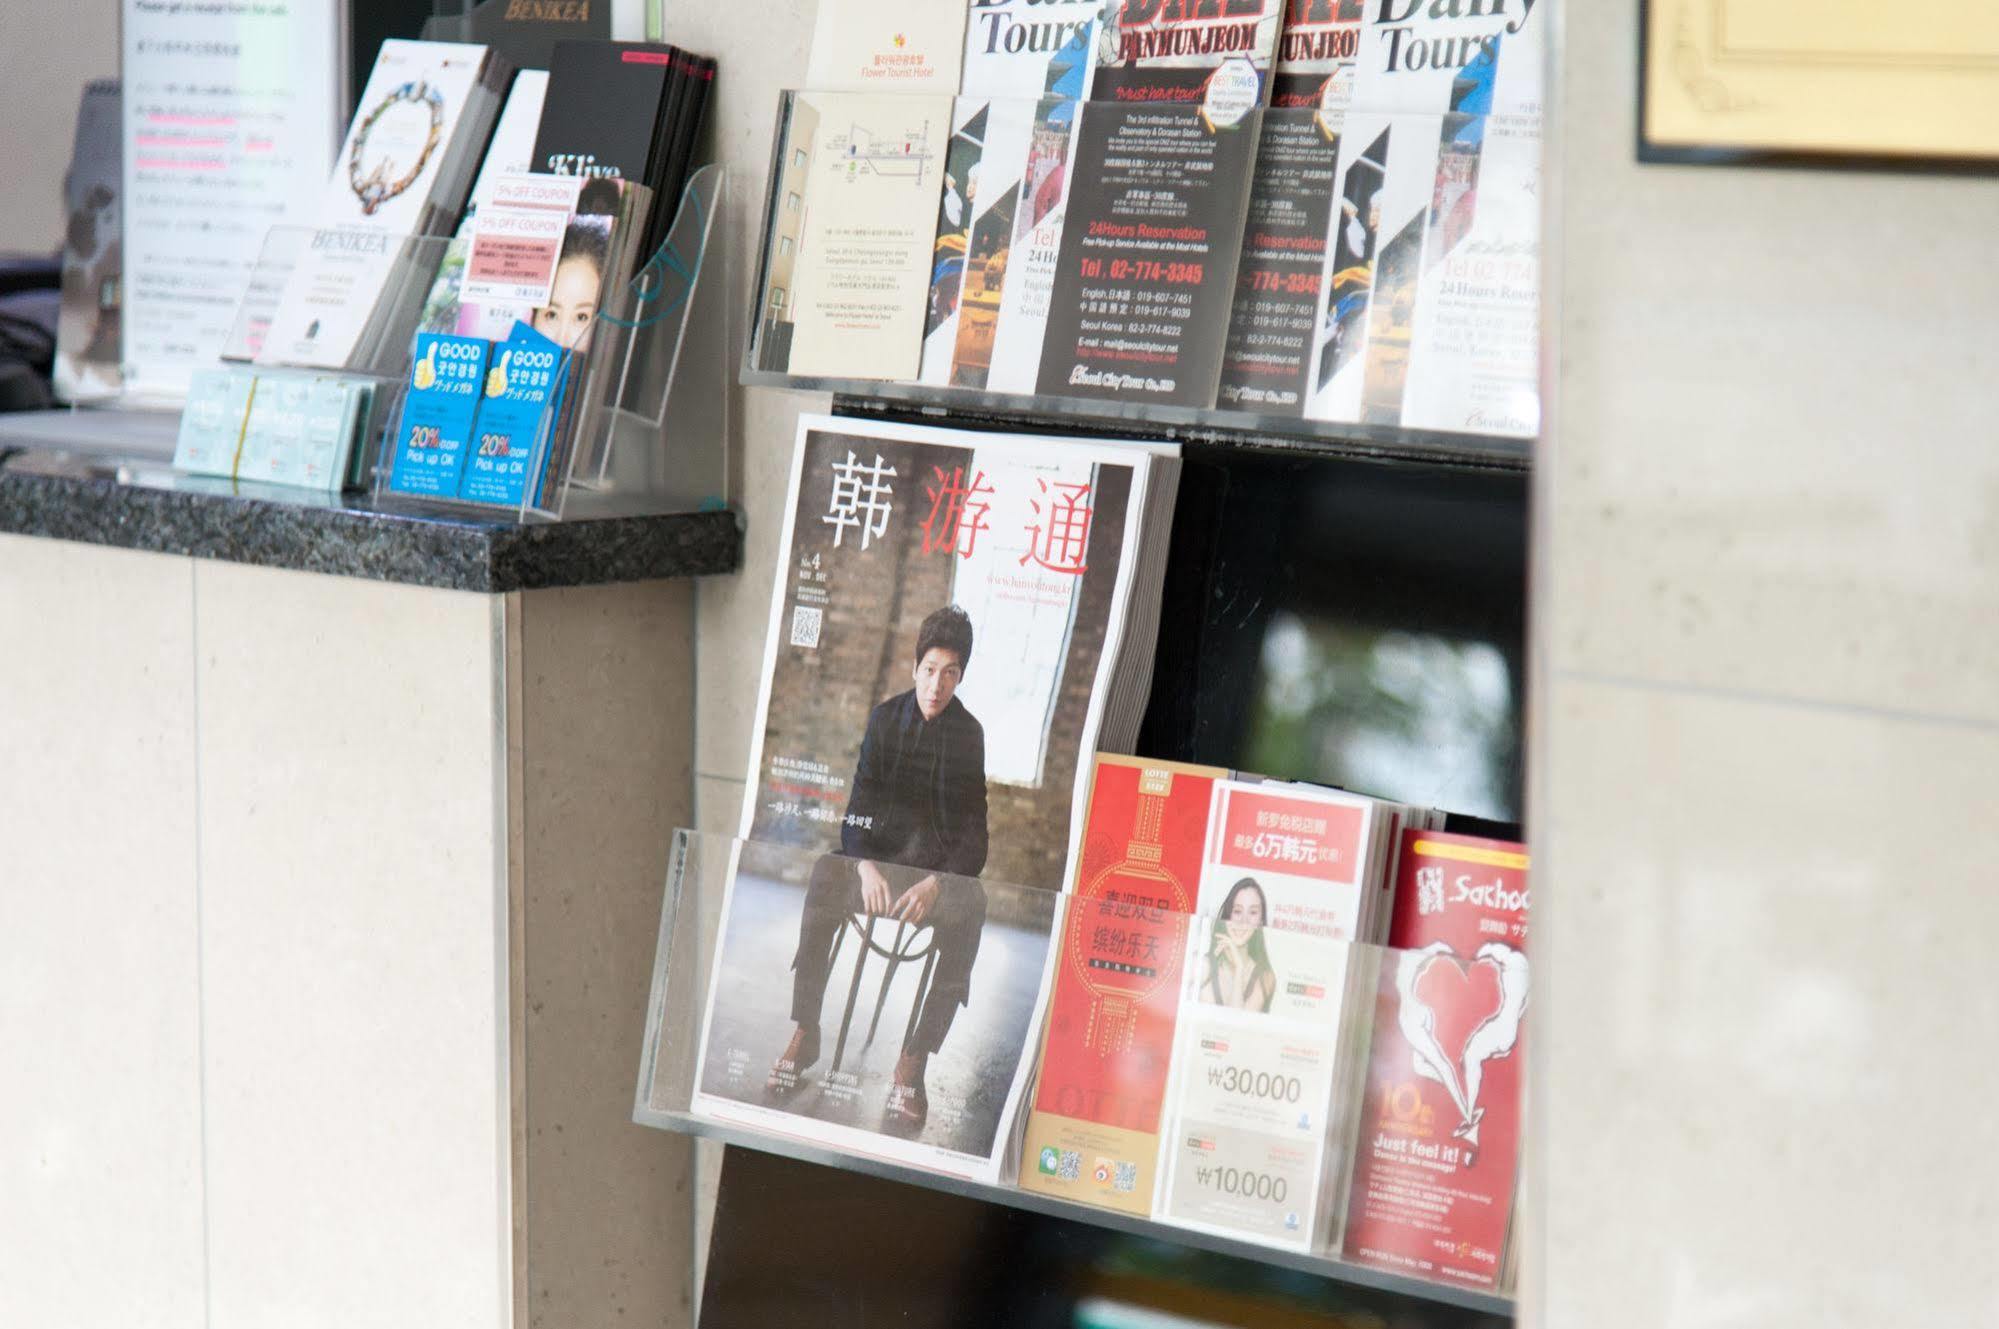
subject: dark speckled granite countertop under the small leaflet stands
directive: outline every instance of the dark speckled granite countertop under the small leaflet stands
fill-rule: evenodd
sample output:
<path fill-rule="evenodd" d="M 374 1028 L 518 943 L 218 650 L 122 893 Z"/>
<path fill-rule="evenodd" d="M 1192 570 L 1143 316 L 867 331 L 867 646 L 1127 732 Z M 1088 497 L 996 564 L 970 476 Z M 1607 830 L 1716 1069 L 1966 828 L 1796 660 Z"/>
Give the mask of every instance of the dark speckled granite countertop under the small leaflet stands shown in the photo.
<path fill-rule="evenodd" d="M 0 464 L 0 532 L 492 594 L 742 564 L 734 512 L 522 526 L 36 452 Z"/>

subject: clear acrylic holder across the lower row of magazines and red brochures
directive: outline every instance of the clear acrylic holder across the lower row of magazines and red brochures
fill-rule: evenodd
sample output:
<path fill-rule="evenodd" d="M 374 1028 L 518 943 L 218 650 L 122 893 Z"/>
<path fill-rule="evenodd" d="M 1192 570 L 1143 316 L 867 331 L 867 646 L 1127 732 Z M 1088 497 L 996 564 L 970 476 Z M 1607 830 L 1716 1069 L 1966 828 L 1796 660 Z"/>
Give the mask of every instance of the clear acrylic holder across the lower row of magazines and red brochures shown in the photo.
<path fill-rule="evenodd" d="M 952 987 L 964 1001 L 956 1021 L 946 1019 L 944 1037 L 924 1043 L 934 997 L 950 987 L 954 927 L 964 947 L 964 923 L 946 917 L 950 895 L 940 891 L 934 913 L 916 925 L 870 915 L 856 899 L 820 895 L 828 863 L 850 859 L 728 835 L 676 835 L 636 1121 L 1511 1315 L 1503 1231 L 1469 1257 L 1455 1247 L 1413 1257 L 1391 1251 L 1369 1259 L 1365 1249 L 1351 1255 L 1361 1231 L 1355 1223 L 1375 1221 L 1363 1203 L 1379 1205 L 1407 1185 L 1407 1171 L 1397 1175 L 1393 1167 L 1401 1159 L 1391 1159 L 1389 1171 L 1377 1165 L 1379 1175 L 1369 1173 L 1361 1187 L 1351 1183 L 1359 1161 L 1371 1157 L 1365 1137 L 1395 1133 L 1387 1125 L 1375 1131 L 1375 1115 L 1401 1111 L 1391 1101 L 1403 1095 L 1421 1101 L 1413 1087 L 1377 1093 L 1375 1071 L 1389 1063 L 1371 1057 L 1387 1041 L 1371 1031 L 1377 1009 L 1395 1009 L 1399 975 L 1429 961 L 1427 951 L 1305 933 L 1283 933 L 1279 941 L 1275 929 L 1257 929 L 1237 953 L 1271 957 L 1283 971 L 1275 987 L 1285 995 L 1275 1005 L 1265 995 L 1267 1011 L 1251 1013 L 1225 1009 L 1231 1003 L 1213 995 L 1225 983 L 1203 977 L 1213 975 L 1203 955 L 1223 945 L 1215 919 L 1167 913 L 1137 895 L 1077 899 L 952 879 L 944 891 L 970 887 L 980 895 L 978 909 L 968 911 L 960 899 L 952 913 L 974 919 L 976 961 L 970 985 Z M 818 1057 L 780 1073 L 776 1059 L 788 1047 L 798 1001 L 794 961 L 806 967 L 808 947 L 820 945 L 830 959 L 816 971 L 824 991 Z M 1481 951 L 1471 961 L 1473 979 L 1483 959 Z M 1067 989 L 1065 965 L 1079 977 Z M 1525 1013 L 1523 971 L 1519 981 L 1515 1027 Z M 1159 1065 L 1143 1081 L 1107 1079 L 1091 1089 L 1075 1087 L 1087 1081 L 1071 1081 L 1069 1065 L 1049 1069 L 1057 1053 L 1049 1047 L 1041 1055 L 1043 1027 L 1083 1025 L 1079 1009 L 1065 1001 L 1085 993 L 1091 1025 L 1115 1023 L 1143 1019 L 1129 1009 L 1151 1005 L 1159 989 L 1171 989 L 1171 1071 Z M 892 1125 L 890 1109 L 900 1093 L 898 1055 L 918 1045 L 936 1051 L 928 1053 L 928 1119 L 912 1133 Z M 1467 1113 L 1471 1141 L 1485 1115 L 1489 1157 L 1479 1183 L 1501 1203 L 1513 1193 L 1517 1167 L 1517 1101 L 1507 1093 L 1517 1093 L 1519 1061 L 1507 1057 L 1511 1047 L 1485 1063 L 1485 1093 L 1473 1089 Z M 1041 1077 L 1049 1077 L 1045 1099 Z M 1091 1147 L 1097 1135 L 1127 1141 L 1129 1133 L 1091 1135 L 1093 1127 L 1081 1127 L 1081 1147 L 1069 1149 L 1069 1141 L 1049 1135 L 1049 1117 L 1031 1119 L 1047 1103 L 1147 1093 L 1163 1103 L 1153 1127 L 1157 1163 L 1137 1167 L 1153 1171 L 1127 1175 L 1117 1143 Z M 1455 1165 L 1471 1145 L 1465 1131 L 1453 1133 L 1459 1113 L 1411 1125 L 1405 1147 Z M 1495 1185 L 1489 1177 L 1501 1171 Z M 1131 1193 L 1133 1177 L 1153 1189 L 1149 1205 Z M 1447 1271 L 1453 1261 L 1469 1267 L 1455 1279 Z"/>

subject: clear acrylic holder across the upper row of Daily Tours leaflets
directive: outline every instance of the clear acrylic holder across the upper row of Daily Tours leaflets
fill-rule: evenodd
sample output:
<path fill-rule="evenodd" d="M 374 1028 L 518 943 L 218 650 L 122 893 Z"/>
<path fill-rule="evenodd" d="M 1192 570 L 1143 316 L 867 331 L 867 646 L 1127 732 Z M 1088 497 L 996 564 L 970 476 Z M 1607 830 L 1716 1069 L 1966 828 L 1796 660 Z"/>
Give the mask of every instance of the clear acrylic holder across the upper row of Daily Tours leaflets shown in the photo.
<path fill-rule="evenodd" d="M 1445 332 L 1441 322 L 1435 324 L 1433 344 L 1441 348 L 1437 352 L 1439 364 L 1445 358 L 1449 364 L 1431 368 L 1431 362 L 1425 360 L 1423 384 L 1441 384 L 1455 394 L 1469 394 L 1479 402 L 1489 398 L 1499 406 L 1473 406 L 1459 402 L 1449 392 L 1443 394 L 1445 404 L 1439 406 L 1437 396 L 1425 386 L 1411 388 L 1407 396 L 1411 404 L 1419 398 L 1425 404 L 1403 408 L 1405 384 L 1417 382 L 1409 378 L 1413 362 L 1409 294 L 1419 280 L 1427 284 L 1423 290 L 1439 292 L 1445 290 L 1445 278 L 1455 276 L 1455 272 L 1447 274 L 1435 258 L 1417 260 L 1419 248 L 1411 246 L 1429 244 L 1441 252 L 1447 238 L 1457 246 L 1449 262 L 1471 264 L 1473 260 L 1465 252 L 1479 236 L 1473 234 L 1469 242 L 1465 240 L 1467 216 L 1503 218 L 1507 224 L 1519 224 L 1523 218 L 1537 220 L 1537 206 L 1531 204 L 1531 180 L 1519 180 L 1521 188 L 1503 196 L 1489 190 L 1491 198 L 1483 202 L 1475 190 L 1459 192 L 1455 184 L 1445 180 L 1445 164 L 1459 158 L 1451 156 L 1441 116 L 1399 118 L 1419 124 L 1389 124 L 1395 118 L 1373 116 L 1367 124 L 1369 134 L 1377 128 L 1401 134 L 1437 158 L 1435 214 L 1439 220 L 1425 224 L 1421 220 L 1425 214 L 1419 214 L 1415 226 L 1395 236 L 1395 246 L 1389 246 L 1387 238 L 1381 236 L 1379 256 L 1377 236 L 1367 230 L 1365 262 L 1349 262 L 1347 268 L 1327 278 L 1317 268 L 1317 254 L 1325 252 L 1329 232 L 1337 242 L 1331 210 L 1339 206 L 1339 200 L 1331 198 L 1329 184 L 1299 184 L 1321 176 L 1331 180 L 1333 166 L 1341 160 L 1337 156 L 1337 124 L 1329 126 L 1317 110 L 1251 110 L 1217 134 L 1211 148 L 1213 160 L 1201 162 L 1201 166 L 1213 166 L 1215 180 L 1239 176 L 1243 180 L 1239 194 L 1181 190 L 1179 182 L 1187 174 L 1167 170 L 1175 162 L 1163 162 L 1153 180 L 1135 180 L 1143 172 L 1139 166 L 1131 166 L 1131 156 L 1143 156 L 1145 146 L 1133 136 L 1125 158 L 1117 158 L 1115 152 L 1107 158 L 1107 162 L 1119 162 L 1125 174 L 1133 176 L 1123 184 L 1139 194 L 1151 188 L 1179 190 L 1181 196 L 1159 214 L 1165 220 L 1149 220 L 1139 214 L 1117 214 L 1119 204 L 1097 198 L 1109 190 L 1095 190 L 1091 194 L 1093 206 L 1109 210 L 1105 212 L 1109 220 L 1091 222 L 1091 240 L 1073 244 L 1065 234 L 1067 224 L 1081 214 L 1077 200 L 1089 188 L 1091 174 L 1103 166 L 1103 162 L 1079 160 L 1083 144 L 1091 142 L 1089 118 L 1149 108 L 1067 102 L 1065 106 L 1073 108 L 1083 124 L 1083 132 L 1069 134 L 1067 154 L 1075 160 L 1063 160 L 1051 168 L 1037 166 L 1043 152 L 1041 138 L 1049 138 L 1045 134 L 1049 126 L 1037 124 L 1035 148 L 1027 152 L 1025 168 L 1013 164 L 1009 174 L 1019 176 L 1019 180 L 1009 184 L 1001 178 L 1000 164 L 992 160 L 998 140 L 988 136 L 978 142 L 968 130 L 982 124 L 990 130 L 1000 124 L 1001 112 L 1015 112 L 1015 120 L 1025 118 L 1029 114 L 1025 102 L 980 102 L 978 106 L 984 106 L 984 114 L 990 116 L 980 122 L 966 120 L 974 104 L 960 100 L 954 122 L 966 120 L 966 126 L 956 136 L 950 134 L 950 128 L 944 134 L 936 132 L 926 116 L 920 130 L 910 130 L 908 144 L 890 144 L 896 148 L 888 154 L 890 160 L 874 162 L 870 158 L 884 156 L 882 142 L 868 136 L 876 126 L 850 126 L 846 112 L 834 100 L 838 96 L 842 94 L 804 90 L 780 94 L 770 194 L 764 202 L 762 242 L 754 260 L 754 304 L 742 360 L 744 384 L 834 392 L 846 398 L 882 402 L 890 410 L 930 408 L 962 418 L 1033 418 L 1049 428 L 1069 430 L 1111 428 L 1171 438 L 1269 436 L 1285 446 L 1307 450 L 1509 466 L 1529 456 L 1539 416 L 1531 336 L 1533 300 L 1513 302 L 1513 308 L 1507 308 L 1509 324 L 1503 346 L 1499 334 L 1481 332 L 1493 320 L 1465 300 L 1459 300 L 1463 308 L 1449 310 L 1445 322 L 1453 326 L 1451 332 Z M 882 100 L 872 98 L 874 104 L 882 104 Z M 1159 110 L 1161 114 L 1183 112 L 1191 116 L 1197 108 Z M 1043 112 L 1041 120 L 1045 118 Z M 916 122 L 914 116 L 912 122 Z M 1059 126 L 1055 128 L 1059 130 Z M 944 142 L 946 138 L 950 144 Z M 1059 142 L 1061 132 L 1051 138 Z M 1123 142 L 1107 130 L 1095 134 L 1095 140 L 1105 138 Z M 1425 138 L 1427 144 L 1421 144 Z M 1445 140 L 1441 150 L 1439 138 Z M 1513 144 L 1517 168 L 1513 174 L 1531 176 L 1533 168 L 1527 162 L 1539 160 L 1537 128 L 1523 128 L 1507 142 Z M 814 154 L 824 156 L 828 148 L 834 150 L 834 160 L 816 160 Z M 986 160 L 980 160 L 980 154 L 986 154 Z M 1267 182 L 1257 170 L 1261 156 L 1295 168 L 1295 178 Z M 1493 152 L 1485 156 L 1489 158 Z M 808 280 L 812 238 L 818 234 L 812 230 L 810 218 L 814 188 L 824 192 L 842 184 L 838 176 L 824 174 L 824 168 L 830 166 L 868 172 L 910 168 L 912 160 L 920 160 L 928 170 L 944 172 L 946 180 L 940 234 L 928 254 L 930 272 L 922 298 L 922 368 L 908 376 L 882 376 L 866 368 L 822 372 L 818 368 L 822 358 L 794 354 L 806 324 L 792 322 L 800 286 Z M 1307 172 L 1311 174 L 1307 176 Z M 1475 180 L 1475 166 L 1471 172 Z M 1373 190 L 1361 192 L 1361 202 L 1365 204 L 1371 194 Z M 1427 208 L 1431 188 L 1425 184 L 1419 194 L 1425 200 L 1419 208 Z M 1501 198 L 1505 206 L 1501 206 Z M 1049 204 L 1047 200 L 1059 202 Z M 1485 212 L 1475 214 L 1473 204 L 1483 206 Z M 936 206 L 934 198 L 932 206 Z M 1063 222 L 1061 212 L 1047 212 L 1051 206 L 1065 210 L 1067 222 Z M 1143 206 L 1137 208 L 1143 212 Z M 1359 204 L 1353 208 L 1351 216 L 1371 216 Z M 1299 216 L 1307 210 L 1327 214 L 1313 218 L 1313 226 L 1303 228 L 1309 234 L 1287 234 L 1285 226 L 1269 224 L 1269 218 Z M 1033 222 L 1033 218 L 1043 220 Z M 1131 226 L 1123 226 L 1123 222 Z M 1261 236 L 1265 248 L 1259 254 L 1255 244 L 1189 246 L 1179 238 L 1167 238 L 1143 250 L 1141 256 L 1119 258 L 1115 248 L 1103 248 L 1105 242 L 1095 238 L 1099 232 L 1145 228 L 1157 228 L 1153 234 L 1171 236 L 1185 230 L 1187 222 L 1193 222 L 1203 236 L 1211 226 L 1211 234 L 1217 238 L 1233 238 L 1237 228 L 1245 226 L 1241 234 Z M 1035 238 L 1029 224 L 1063 228 L 1061 268 L 1055 268 L 1053 244 Z M 1311 254 L 1309 262 L 1299 262 L 1297 256 L 1307 252 Z M 1091 268 L 1091 264 L 1097 266 Z M 1505 278 L 1531 290 L 1535 286 L 1535 278 L 1527 272 L 1533 260 L 1519 260 L 1519 272 L 1493 270 L 1485 276 L 1495 286 Z M 1083 276 L 1077 278 L 1075 290 L 1065 290 L 1061 282 L 1071 276 L 1071 266 Z M 1053 292 L 1043 290 L 1039 296 L 1025 298 L 1013 292 L 1021 272 L 1027 272 L 1029 278 L 1039 272 L 1043 284 L 1055 282 Z M 1049 276 L 1051 272 L 1053 276 Z M 1333 282 L 1339 300 L 1319 300 L 1317 292 L 1323 280 Z M 1455 284 L 1455 288 L 1467 286 L 1469 282 Z M 1371 288 L 1393 298 L 1369 306 L 1367 290 Z M 1357 292 L 1357 296 L 1349 292 Z M 1015 306 L 1015 300 L 1021 304 Z M 1009 324 L 1015 308 L 1025 316 L 1025 322 Z M 1067 320 L 1063 320 L 1065 308 L 1069 310 Z M 1045 322 L 1049 338 L 1059 336 L 1055 330 L 1061 324 L 1069 336 L 1081 338 L 1083 344 L 1071 348 L 1073 356 L 1063 350 L 1061 356 L 1049 358 L 1033 348 L 1031 338 L 1021 338 L 1021 328 L 1037 322 Z M 1519 328 L 1513 324 L 1523 324 L 1523 342 L 1515 336 Z M 1363 334 L 1373 338 L 1367 364 L 1347 368 L 1351 356 L 1341 346 L 1355 344 Z M 1479 348 L 1481 336 L 1491 346 Z M 1447 340 L 1449 346 L 1445 346 Z M 1465 342 L 1473 344 L 1469 352 L 1465 352 Z M 1043 346 L 1051 348 L 1053 342 Z M 1161 350 L 1161 346 L 1171 350 Z M 1007 360 L 1003 368 L 1001 360 Z M 1163 380 L 1177 372 L 1181 390 L 1167 394 L 1141 386 L 1151 374 L 1149 362 L 1169 364 L 1171 368 L 1161 370 L 1159 376 Z M 1217 364 L 1223 368 L 1217 370 Z M 1343 378 L 1335 378 L 1335 364 Z M 1363 372 L 1365 388 L 1359 384 Z M 1265 382 L 1281 384 L 1281 388 L 1267 390 L 1261 386 Z M 1473 386 L 1467 388 L 1467 382 Z M 1007 384 L 1007 390 L 1000 390 L 998 384 Z M 1071 388 L 1071 384 L 1083 384 L 1083 388 Z M 1313 400 L 1315 414 L 1331 414 L 1305 418 L 1305 398 Z M 1271 402 L 1287 402 L 1287 406 Z"/>

